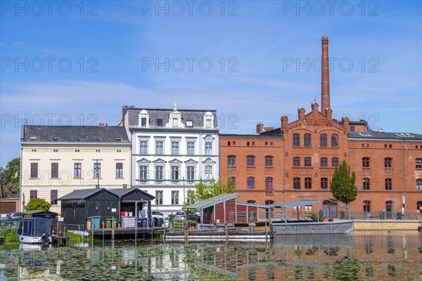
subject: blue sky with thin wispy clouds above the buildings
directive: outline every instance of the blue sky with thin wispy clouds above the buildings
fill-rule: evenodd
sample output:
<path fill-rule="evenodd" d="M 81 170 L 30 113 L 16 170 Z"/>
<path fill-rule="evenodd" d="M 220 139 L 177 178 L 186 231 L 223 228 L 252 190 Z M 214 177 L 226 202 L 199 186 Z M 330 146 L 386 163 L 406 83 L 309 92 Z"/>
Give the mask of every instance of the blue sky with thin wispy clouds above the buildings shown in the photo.
<path fill-rule="evenodd" d="M 47 1 L 48 2 L 48 1 Z M 0 164 L 20 125 L 120 123 L 122 105 L 215 109 L 222 133 L 335 118 L 422 133 L 421 1 L 0 1 Z"/>

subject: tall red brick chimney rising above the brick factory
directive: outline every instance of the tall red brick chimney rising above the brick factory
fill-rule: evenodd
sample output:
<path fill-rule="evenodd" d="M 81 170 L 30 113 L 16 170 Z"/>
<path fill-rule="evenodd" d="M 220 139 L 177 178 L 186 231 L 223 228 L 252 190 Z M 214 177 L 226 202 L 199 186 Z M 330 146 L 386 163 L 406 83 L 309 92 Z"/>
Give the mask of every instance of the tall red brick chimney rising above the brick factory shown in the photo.
<path fill-rule="evenodd" d="M 321 58 L 321 112 L 330 108 L 330 70 L 328 68 L 328 37 L 322 37 Z"/>

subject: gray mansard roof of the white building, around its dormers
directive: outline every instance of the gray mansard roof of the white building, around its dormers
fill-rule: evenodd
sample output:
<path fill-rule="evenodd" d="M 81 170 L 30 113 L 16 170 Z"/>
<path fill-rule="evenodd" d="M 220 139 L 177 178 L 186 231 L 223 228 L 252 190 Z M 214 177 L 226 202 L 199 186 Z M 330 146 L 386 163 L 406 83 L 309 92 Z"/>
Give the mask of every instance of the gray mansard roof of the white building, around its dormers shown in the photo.
<path fill-rule="evenodd" d="M 148 112 L 148 115 L 150 118 L 149 124 L 151 127 L 156 127 L 157 119 L 162 119 L 163 125 L 167 124 L 170 119 L 170 112 L 174 111 L 174 110 L 160 109 L 160 108 L 149 109 L 149 108 L 129 107 L 127 110 L 129 126 L 139 125 L 139 112 L 141 112 L 141 110 L 146 110 Z M 189 127 L 186 129 L 193 129 L 193 128 L 203 129 L 203 117 L 205 115 L 205 112 L 212 113 L 212 115 L 214 116 L 214 129 L 218 128 L 216 110 L 179 110 L 179 109 L 177 110 L 181 114 L 181 122 L 183 122 L 185 125 L 186 125 L 186 121 L 188 120 L 192 121 L 192 127 Z M 160 128 L 160 126 L 158 126 L 158 128 Z"/>

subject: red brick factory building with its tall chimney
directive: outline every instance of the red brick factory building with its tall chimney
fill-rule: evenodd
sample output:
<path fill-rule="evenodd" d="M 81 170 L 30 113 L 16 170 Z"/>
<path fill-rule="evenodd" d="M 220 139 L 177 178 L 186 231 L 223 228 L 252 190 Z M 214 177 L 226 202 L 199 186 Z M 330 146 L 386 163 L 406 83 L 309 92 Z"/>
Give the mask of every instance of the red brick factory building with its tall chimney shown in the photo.
<path fill-rule="evenodd" d="M 255 134 L 221 134 L 222 181 L 236 180 L 239 202 L 333 198 L 329 183 L 345 159 L 359 190 L 352 211 L 422 211 L 422 135 L 371 131 L 364 120 L 333 119 L 327 37 L 322 38 L 321 61 L 321 110 L 314 102 L 309 113 L 298 110 L 298 120 L 281 117 L 278 129 L 258 124 Z"/>

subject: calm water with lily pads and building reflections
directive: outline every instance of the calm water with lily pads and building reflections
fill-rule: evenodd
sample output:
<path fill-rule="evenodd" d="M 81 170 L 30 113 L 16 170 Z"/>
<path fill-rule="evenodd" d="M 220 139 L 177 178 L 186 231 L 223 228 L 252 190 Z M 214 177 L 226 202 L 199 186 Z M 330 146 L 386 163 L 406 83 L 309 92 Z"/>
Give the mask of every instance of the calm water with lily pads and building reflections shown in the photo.
<path fill-rule="evenodd" d="M 422 234 L 0 248 L 0 280 L 422 280 Z"/>

